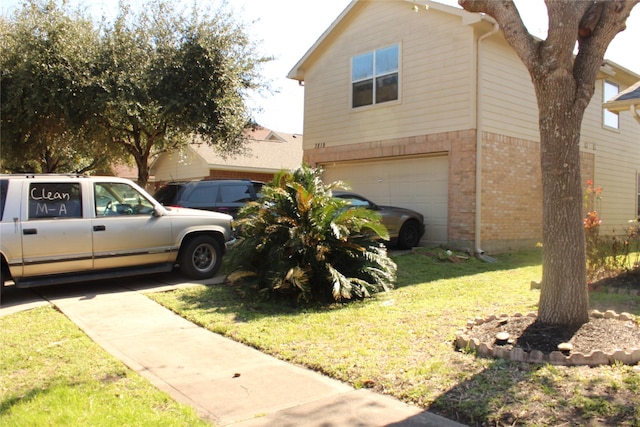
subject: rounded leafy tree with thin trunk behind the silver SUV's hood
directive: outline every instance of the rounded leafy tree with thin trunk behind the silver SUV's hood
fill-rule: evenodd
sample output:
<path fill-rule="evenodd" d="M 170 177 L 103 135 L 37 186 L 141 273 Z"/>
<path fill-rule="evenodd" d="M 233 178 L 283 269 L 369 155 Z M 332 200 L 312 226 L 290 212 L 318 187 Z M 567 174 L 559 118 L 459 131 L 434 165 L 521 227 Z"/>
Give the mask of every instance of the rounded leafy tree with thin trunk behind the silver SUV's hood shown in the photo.
<path fill-rule="evenodd" d="M 195 135 L 223 153 L 241 148 L 245 97 L 264 88 L 258 71 L 267 60 L 225 9 L 178 12 L 152 0 L 134 13 L 121 3 L 102 39 L 99 122 L 133 156 L 144 185 L 150 158 Z"/>

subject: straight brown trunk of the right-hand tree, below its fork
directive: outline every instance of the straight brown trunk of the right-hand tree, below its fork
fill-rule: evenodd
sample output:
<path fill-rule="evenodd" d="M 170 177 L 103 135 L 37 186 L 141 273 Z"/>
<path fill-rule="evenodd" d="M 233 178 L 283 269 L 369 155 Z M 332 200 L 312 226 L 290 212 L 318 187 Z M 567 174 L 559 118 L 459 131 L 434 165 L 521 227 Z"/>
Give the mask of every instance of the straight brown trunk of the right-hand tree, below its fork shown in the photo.
<path fill-rule="evenodd" d="M 543 270 L 538 321 L 577 326 L 589 321 L 582 227 L 580 127 L 571 75 L 534 80 L 540 112 Z"/>

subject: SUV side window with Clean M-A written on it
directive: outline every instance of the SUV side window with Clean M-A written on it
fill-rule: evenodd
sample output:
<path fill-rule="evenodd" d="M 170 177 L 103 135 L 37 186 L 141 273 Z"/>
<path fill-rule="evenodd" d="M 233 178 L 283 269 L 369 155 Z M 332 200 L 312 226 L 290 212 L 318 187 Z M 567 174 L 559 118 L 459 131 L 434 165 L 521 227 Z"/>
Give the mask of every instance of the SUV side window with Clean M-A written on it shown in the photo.
<path fill-rule="evenodd" d="M 79 183 L 36 182 L 29 185 L 29 219 L 82 218 Z"/>

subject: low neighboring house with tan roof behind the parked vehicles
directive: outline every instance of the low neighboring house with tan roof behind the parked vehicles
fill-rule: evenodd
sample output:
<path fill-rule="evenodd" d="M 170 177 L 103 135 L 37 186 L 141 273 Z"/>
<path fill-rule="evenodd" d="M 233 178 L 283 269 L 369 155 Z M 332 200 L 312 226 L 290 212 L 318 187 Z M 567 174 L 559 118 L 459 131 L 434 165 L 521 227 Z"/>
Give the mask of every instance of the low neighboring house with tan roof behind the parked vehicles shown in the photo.
<path fill-rule="evenodd" d="M 156 185 L 169 181 L 247 178 L 270 181 L 281 169 L 302 164 L 302 135 L 265 128 L 247 130 L 249 142 L 242 154 L 225 157 L 204 143 L 160 154 L 151 164 Z"/>

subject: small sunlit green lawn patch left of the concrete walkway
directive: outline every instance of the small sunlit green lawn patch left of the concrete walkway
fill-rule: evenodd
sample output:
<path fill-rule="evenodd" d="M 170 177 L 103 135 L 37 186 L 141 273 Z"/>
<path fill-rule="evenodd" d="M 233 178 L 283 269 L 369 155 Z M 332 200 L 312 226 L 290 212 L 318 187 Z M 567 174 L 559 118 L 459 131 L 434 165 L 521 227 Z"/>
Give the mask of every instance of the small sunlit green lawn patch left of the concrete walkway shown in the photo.
<path fill-rule="evenodd" d="M 0 425 L 210 425 L 51 307 L 0 318 Z"/>

